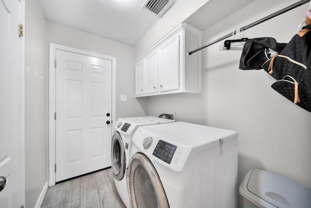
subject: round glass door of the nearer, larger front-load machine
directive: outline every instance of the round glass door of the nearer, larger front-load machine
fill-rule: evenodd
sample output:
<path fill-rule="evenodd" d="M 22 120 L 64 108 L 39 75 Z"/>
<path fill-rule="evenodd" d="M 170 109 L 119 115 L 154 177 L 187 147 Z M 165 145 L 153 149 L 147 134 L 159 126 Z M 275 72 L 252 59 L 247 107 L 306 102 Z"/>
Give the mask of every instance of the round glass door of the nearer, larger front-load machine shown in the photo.
<path fill-rule="evenodd" d="M 161 180 L 144 154 L 132 157 L 126 182 L 132 208 L 169 208 Z"/>

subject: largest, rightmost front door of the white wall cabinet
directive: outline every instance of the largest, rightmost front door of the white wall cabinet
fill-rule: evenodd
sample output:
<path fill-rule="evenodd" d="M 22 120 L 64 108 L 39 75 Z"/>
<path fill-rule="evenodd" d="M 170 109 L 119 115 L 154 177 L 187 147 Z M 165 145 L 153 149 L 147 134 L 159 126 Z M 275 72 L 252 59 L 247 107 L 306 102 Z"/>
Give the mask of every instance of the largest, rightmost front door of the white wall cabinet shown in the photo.
<path fill-rule="evenodd" d="M 159 91 L 179 89 L 179 35 L 159 47 Z"/>

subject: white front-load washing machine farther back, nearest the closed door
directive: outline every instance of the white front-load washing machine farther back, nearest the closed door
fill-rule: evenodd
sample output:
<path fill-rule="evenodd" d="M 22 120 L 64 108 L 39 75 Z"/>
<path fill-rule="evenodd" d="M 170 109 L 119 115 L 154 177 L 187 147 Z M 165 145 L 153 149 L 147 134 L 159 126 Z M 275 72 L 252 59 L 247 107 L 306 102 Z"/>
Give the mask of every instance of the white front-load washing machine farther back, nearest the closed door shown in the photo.
<path fill-rule="evenodd" d="M 126 188 L 126 168 L 131 156 L 132 136 L 140 126 L 174 122 L 171 119 L 152 116 L 119 118 L 114 123 L 111 142 L 111 168 L 117 191 L 126 207 L 130 208 Z M 125 177 L 124 177 L 125 176 Z"/>

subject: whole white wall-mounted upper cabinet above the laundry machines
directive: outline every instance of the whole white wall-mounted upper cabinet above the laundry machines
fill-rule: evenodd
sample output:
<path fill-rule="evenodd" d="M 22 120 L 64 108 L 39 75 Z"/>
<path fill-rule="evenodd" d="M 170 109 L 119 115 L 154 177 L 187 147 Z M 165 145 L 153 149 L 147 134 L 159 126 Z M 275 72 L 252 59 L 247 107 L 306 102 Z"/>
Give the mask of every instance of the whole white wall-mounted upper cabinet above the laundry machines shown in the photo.
<path fill-rule="evenodd" d="M 136 97 L 201 92 L 202 31 L 182 23 L 135 61 Z M 146 86 L 146 89 L 144 88 Z"/>

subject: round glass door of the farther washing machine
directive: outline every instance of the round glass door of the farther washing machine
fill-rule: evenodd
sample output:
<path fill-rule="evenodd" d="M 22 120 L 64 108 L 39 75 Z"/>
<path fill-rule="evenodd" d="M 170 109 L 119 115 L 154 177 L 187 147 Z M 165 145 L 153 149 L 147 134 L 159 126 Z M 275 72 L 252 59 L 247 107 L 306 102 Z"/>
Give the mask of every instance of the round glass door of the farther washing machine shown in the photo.
<path fill-rule="evenodd" d="M 125 175 L 126 158 L 122 142 L 122 137 L 119 132 L 114 132 L 111 142 L 111 168 L 115 179 L 122 180 Z"/>

